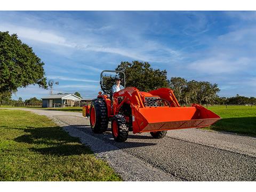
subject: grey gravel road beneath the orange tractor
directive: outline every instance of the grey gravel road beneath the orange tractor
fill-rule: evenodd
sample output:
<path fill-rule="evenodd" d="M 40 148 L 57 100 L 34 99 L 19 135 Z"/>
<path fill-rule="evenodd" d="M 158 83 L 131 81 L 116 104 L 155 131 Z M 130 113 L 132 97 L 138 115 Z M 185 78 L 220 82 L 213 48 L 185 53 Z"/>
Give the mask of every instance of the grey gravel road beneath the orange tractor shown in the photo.
<path fill-rule="evenodd" d="M 52 118 L 105 159 L 125 181 L 255 181 L 256 138 L 188 129 L 169 131 L 163 139 L 133 134 L 123 143 L 110 129 L 92 133 L 81 113 L 34 110 Z M 256 127 L 255 127 L 256 128 Z"/>

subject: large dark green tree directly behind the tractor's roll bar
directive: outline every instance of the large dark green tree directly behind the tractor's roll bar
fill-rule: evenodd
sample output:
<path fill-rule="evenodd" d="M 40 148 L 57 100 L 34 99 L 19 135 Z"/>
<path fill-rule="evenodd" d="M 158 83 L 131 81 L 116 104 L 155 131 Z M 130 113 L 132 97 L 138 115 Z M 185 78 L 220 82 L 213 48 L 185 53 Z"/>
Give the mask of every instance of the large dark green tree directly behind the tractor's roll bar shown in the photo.
<path fill-rule="evenodd" d="M 150 91 L 161 87 L 169 87 L 166 70 L 153 69 L 148 62 L 121 62 L 116 70 L 125 73 L 126 86 L 137 87 L 140 91 Z M 122 78 L 122 74 L 119 74 Z"/>

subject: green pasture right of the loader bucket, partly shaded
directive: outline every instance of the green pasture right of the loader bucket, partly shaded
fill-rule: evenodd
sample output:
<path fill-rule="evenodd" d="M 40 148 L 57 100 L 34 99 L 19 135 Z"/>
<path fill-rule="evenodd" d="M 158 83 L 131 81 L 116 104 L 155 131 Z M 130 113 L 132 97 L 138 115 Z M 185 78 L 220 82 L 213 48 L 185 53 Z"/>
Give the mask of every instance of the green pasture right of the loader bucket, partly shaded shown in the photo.
<path fill-rule="evenodd" d="M 256 137 L 256 107 L 253 106 L 211 106 L 211 111 L 222 119 L 206 129 L 227 131 Z"/>

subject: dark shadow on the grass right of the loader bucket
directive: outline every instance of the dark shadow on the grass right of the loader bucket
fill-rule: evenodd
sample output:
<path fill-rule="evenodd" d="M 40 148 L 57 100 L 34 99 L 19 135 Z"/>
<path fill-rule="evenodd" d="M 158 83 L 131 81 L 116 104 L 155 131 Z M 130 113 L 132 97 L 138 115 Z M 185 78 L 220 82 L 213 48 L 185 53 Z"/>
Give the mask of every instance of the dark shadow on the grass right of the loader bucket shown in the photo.
<path fill-rule="evenodd" d="M 227 131 L 256 137 L 256 116 L 223 118 L 210 127 L 214 131 Z"/>

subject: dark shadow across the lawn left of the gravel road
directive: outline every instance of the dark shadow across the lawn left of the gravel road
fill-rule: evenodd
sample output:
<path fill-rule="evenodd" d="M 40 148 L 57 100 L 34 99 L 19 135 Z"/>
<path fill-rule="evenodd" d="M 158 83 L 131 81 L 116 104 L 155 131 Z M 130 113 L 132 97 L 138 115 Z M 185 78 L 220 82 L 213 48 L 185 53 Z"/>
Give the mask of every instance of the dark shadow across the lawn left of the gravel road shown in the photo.
<path fill-rule="evenodd" d="M 78 138 L 70 137 L 61 127 L 28 127 L 23 131 L 27 134 L 14 140 L 32 144 L 32 151 L 58 156 L 92 154 L 89 147 L 81 145 Z"/>

